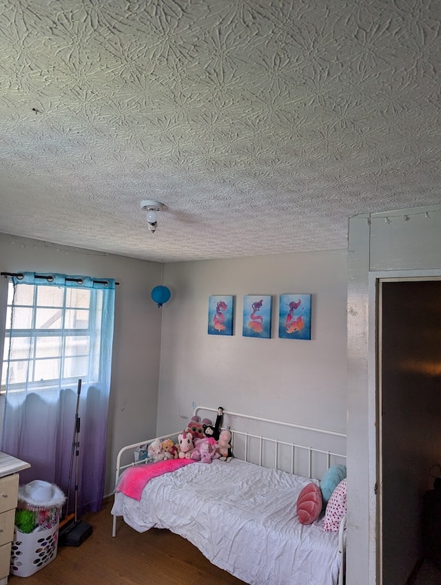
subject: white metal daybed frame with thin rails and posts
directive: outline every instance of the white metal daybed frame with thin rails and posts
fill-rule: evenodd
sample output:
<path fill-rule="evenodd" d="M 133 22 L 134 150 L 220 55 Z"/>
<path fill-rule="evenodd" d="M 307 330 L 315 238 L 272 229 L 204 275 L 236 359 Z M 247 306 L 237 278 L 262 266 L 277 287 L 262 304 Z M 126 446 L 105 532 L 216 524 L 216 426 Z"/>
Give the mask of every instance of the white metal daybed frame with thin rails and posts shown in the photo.
<path fill-rule="evenodd" d="M 218 409 L 212 408 L 212 407 L 206 407 L 206 406 L 197 406 L 193 412 L 194 416 L 198 416 L 198 412 L 212 412 L 214 414 L 217 414 Z M 224 416 L 228 416 L 228 417 L 245 418 L 245 419 L 249 419 L 251 421 L 258 421 L 260 423 L 268 423 L 271 425 L 276 425 L 276 426 L 285 427 L 285 428 L 291 427 L 293 429 L 299 429 L 299 430 L 304 430 L 304 431 L 308 431 L 308 432 L 324 434 L 324 435 L 329 436 L 329 437 L 336 436 L 336 437 L 346 438 L 346 434 L 344 434 L 344 433 L 340 433 L 340 432 L 336 432 L 336 431 L 329 431 L 327 429 L 319 429 L 317 427 L 307 427 L 305 425 L 297 425 L 296 423 L 286 423 L 284 421 L 276 421 L 272 418 L 263 418 L 261 416 L 252 416 L 250 414 L 241 414 L 239 412 L 232 412 L 229 410 L 224 410 L 223 414 L 224 414 Z M 342 459 L 342 460 L 346 460 L 346 455 L 336 453 L 334 451 L 318 449 L 316 447 L 309 447 L 306 445 L 300 445 L 298 443 L 290 443 L 290 442 L 285 441 L 285 440 L 278 440 L 278 439 L 274 439 L 274 438 L 269 438 L 269 437 L 265 437 L 262 435 L 252 434 L 252 433 L 249 433 L 246 431 L 238 431 L 238 430 L 230 428 L 230 427 L 223 427 L 223 428 L 228 428 L 232 434 L 231 444 L 232 444 L 233 452 L 234 452 L 235 439 L 237 440 L 238 437 L 243 438 L 244 454 L 243 454 L 243 457 L 240 457 L 240 458 L 245 460 L 245 461 L 249 460 L 248 459 L 249 440 L 250 439 L 258 440 L 258 445 L 259 445 L 259 447 L 258 447 L 258 449 L 259 449 L 258 462 L 256 462 L 255 460 L 252 461 L 252 462 L 256 463 L 256 465 L 260 465 L 260 466 L 263 465 L 263 446 L 266 444 L 274 445 L 274 465 L 271 466 L 271 467 L 274 467 L 274 469 L 279 469 L 279 467 L 278 467 L 279 446 L 284 445 L 285 447 L 290 447 L 290 449 L 291 449 L 291 474 L 294 474 L 294 465 L 296 462 L 296 452 L 297 451 L 305 451 L 307 453 L 307 457 L 308 457 L 308 475 L 305 477 L 311 477 L 314 454 L 321 454 L 322 456 L 326 456 L 327 467 L 330 467 L 331 458 L 333 458 L 333 457 L 338 458 L 338 459 Z M 121 465 L 121 460 L 122 460 L 123 456 L 127 453 L 127 451 L 130 451 L 131 456 L 133 456 L 133 451 L 137 447 L 147 448 L 148 445 L 150 445 L 150 443 L 153 443 L 153 441 L 156 440 L 156 438 L 159 438 L 160 440 L 164 440 L 164 439 L 172 437 L 172 436 L 177 436 L 177 434 L 181 433 L 181 432 L 182 432 L 182 429 L 180 429 L 178 432 L 175 432 L 175 433 L 167 433 L 167 434 L 162 435 L 160 437 L 154 437 L 154 438 L 150 438 L 147 440 L 141 440 L 138 443 L 132 443 L 132 445 L 126 445 L 125 447 L 123 447 L 119 451 L 118 456 L 116 457 L 115 487 L 116 487 L 116 484 L 118 483 L 118 480 L 119 480 L 119 477 L 121 476 L 121 473 L 125 469 L 127 469 L 128 467 L 134 467 L 135 465 L 143 465 L 145 463 L 148 463 L 147 459 L 143 459 L 143 460 L 139 460 L 139 461 L 135 461 L 135 462 L 130 462 L 130 463 L 125 464 L 125 465 Z M 117 520 L 117 516 L 114 515 L 113 522 L 112 522 L 112 536 L 113 537 L 116 536 L 116 520 Z M 345 538 L 344 538 L 345 528 L 346 528 L 346 516 L 344 516 L 344 518 L 342 518 L 342 521 L 340 522 L 340 529 L 338 531 L 338 557 L 339 557 L 339 562 L 340 562 L 340 568 L 339 568 L 339 573 L 338 573 L 338 585 L 343 585 L 343 583 L 344 583 L 344 564 L 345 564 L 345 549 L 346 549 Z"/>

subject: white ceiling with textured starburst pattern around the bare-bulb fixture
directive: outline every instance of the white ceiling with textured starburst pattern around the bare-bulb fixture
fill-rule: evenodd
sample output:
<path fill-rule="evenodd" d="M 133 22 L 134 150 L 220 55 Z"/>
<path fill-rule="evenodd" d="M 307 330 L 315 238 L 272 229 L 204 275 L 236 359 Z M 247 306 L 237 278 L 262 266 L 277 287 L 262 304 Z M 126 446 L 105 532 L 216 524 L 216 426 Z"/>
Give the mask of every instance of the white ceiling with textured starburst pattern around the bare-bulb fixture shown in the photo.
<path fill-rule="evenodd" d="M 347 248 L 351 215 L 441 202 L 440 21 L 439 0 L 4 0 L 0 232 L 161 262 Z"/>

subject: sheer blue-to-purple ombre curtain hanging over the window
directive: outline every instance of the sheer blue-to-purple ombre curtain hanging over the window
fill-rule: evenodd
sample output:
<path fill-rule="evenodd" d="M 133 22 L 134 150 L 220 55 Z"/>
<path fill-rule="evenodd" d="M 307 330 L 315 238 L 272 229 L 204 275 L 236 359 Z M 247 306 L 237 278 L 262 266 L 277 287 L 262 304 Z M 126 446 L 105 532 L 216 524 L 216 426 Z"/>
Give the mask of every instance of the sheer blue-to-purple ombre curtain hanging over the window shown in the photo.
<path fill-rule="evenodd" d="M 30 463 L 20 472 L 21 483 L 54 483 L 66 495 L 70 491 L 68 511 L 75 496 L 80 514 L 98 511 L 105 481 L 115 282 L 21 273 L 12 284 L 1 449 Z"/>

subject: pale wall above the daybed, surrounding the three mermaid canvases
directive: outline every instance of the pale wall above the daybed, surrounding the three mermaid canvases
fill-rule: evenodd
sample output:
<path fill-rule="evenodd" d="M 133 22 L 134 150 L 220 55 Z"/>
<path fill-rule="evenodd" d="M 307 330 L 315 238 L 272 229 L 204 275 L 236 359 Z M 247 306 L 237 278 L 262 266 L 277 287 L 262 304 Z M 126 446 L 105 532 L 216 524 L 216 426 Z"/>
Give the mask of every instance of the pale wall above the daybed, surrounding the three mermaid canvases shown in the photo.
<path fill-rule="evenodd" d="M 192 403 L 346 432 L 347 253 L 166 264 L 158 433 Z M 278 295 L 311 293 L 311 341 L 278 339 Z M 232 337 L 207 334 L 209 295 L 235 295 Z M 272 339 L 242 337 L 243 295 L 273 295 Z"/>

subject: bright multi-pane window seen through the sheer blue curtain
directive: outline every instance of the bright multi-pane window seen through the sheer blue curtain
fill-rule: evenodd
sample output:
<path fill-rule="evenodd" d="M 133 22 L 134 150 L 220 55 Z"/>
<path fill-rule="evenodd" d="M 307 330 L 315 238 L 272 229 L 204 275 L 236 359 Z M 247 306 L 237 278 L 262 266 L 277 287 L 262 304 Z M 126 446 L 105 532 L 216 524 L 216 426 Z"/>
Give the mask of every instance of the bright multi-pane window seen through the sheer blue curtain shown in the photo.
<path fill-rule="evenodd" d="M 79 378 L 98 380 L 102 292 L 17 284 L 14 293 L 10 282 L 2 392 L 7 379 L 12 392 L 25 385 L 35 391 L 70 385 Z"/>

